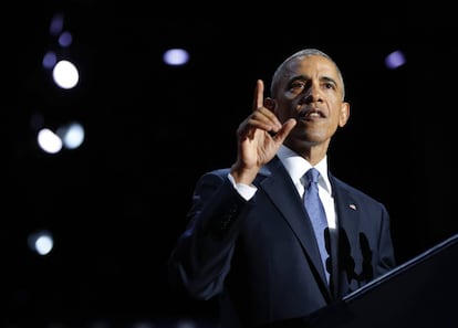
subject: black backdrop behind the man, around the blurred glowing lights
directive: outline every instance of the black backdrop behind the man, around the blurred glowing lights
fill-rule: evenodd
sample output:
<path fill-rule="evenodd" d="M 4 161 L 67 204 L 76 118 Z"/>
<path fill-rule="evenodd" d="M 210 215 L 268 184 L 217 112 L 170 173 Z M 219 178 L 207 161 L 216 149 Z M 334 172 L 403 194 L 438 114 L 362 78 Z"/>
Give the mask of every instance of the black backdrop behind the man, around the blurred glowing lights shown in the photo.
<path fill-rule="evenodd" d="M 14 83 L 3 88 L 1 114 L 6 327 L 212 318 L 211 303 L 170 294 L 167 257 L 197 178 L 235 160 L 235 131 L 251 110 L 256 80 L 268 83 L 305 46 L 336 60 L 352 104 L 330 149 L 331 169 L 386 204 L 398 262 L 458 232 L 454 11 L 439 3 L 357 12 L 330 2 L 219 6 L 70 1 L 11 11 L 4 50 L 14 54 Z M 56 12 L 74 38 L 66 50 L 49 34 Z M 181 46 L 189 64 L 166 66 L 163 52 Z M 81 66 L 75 89 L 56 89 L 42 68 L 50 49 Z M 398 49 L 407 63 L 389 71 L 385 56 Z M 37 115 L 51 127 L 82 121 L 85 142 L 43 154 Z M 27 245 L 41 229 L 55 237 L 46 257 Z"/>

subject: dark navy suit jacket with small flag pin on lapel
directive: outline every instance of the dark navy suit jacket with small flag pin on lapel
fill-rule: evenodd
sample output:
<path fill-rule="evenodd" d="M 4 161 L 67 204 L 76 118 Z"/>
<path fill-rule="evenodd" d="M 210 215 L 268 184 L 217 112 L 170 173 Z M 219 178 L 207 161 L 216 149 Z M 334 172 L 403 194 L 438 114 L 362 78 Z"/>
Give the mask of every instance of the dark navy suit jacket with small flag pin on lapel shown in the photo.
<path fill-rule="evenodd" d="M 395 266 L 385 207 L 330 173 L 339 221 L 333 293 L 306 211 L 280 159 L 260 171 L 248 202 L 228 172 L 216 170 L 198 181 L 189 226 L 169 262 L 174 286 L 198 299 L 219 298 L 222 328 L 308 317 Z"/>

